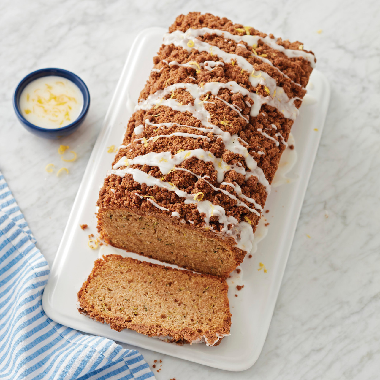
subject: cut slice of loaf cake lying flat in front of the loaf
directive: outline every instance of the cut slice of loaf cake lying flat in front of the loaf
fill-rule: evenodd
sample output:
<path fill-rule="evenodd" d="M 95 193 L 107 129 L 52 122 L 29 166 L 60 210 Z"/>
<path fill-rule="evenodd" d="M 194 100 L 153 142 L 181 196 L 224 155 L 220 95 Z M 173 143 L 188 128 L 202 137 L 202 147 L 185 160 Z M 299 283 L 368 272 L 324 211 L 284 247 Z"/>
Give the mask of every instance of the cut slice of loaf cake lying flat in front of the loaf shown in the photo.
<path fill-rule="evenodd" d="M 107 255 L 79 290 L 79 311 L 116 331 L 213 346 L 230 335 L 227 290 L 220 277 Z"/>

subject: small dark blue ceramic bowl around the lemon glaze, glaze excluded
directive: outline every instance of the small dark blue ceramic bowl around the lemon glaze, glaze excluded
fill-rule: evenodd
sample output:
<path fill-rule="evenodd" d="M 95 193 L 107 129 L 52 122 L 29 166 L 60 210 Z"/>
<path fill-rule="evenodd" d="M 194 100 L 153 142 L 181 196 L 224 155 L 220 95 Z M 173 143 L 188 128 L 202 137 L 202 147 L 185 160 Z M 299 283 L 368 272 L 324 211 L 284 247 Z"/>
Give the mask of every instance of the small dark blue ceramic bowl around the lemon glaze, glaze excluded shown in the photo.
<path fill-rule="evenodd" d="M 20 106 L 19 106 L 20 95 L 22 93 L 22 90 L 24 90 L 25 86 L 27 86 L 27 84 L 34 81 L 35 79 L 41 78 L 43 76 L 49 76 L 49 75 L 62 76 L 62 78 L 68 79 L 69 81 L 73 82 L 74 84 L 78 86 L 79 90 L 81 90 L 82 95 L 83 95 L 83 108 L 82 108 L 81 113 L 76 118 L 76 120 L 74 120 L 71 124 L 65 125 L 65 127 L 54 128 L 54 129 L 37 127 L 31 122 L 28 122 L 28 120 L 26 120 L 25 117 L 22 116 L 22 113 L 20 111 Z M 36 136 L 44 137 L 47 139 L 59 139 L 61 137 L 68 136 L 74 131 L 76 131 L 79 128 L 79 126 L 83 123 L 84 119 L 86 118 L 87 111 L 89 110 L 89 106 L 90 106 L 89 89 L 87 89 L 87 86 L 82 81 L 82 79 L 79 78 L 78 75 L 71 73 L 71 71 L 57 69 L 57 68 L 47 68 L 47 69 L 36 70 L 36 71 L 33 71 L 33 73 L 28 74 L 18 84 L 13 95 L 13 108 L 21 124 L 29 132 L 32 132 Z"/>

